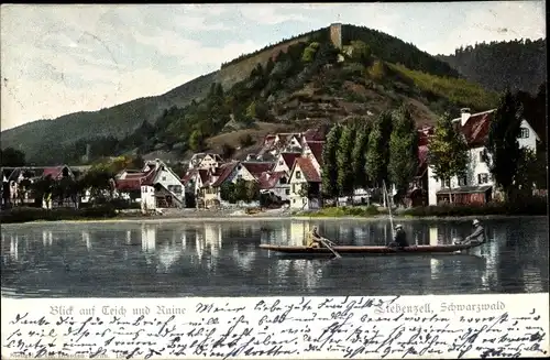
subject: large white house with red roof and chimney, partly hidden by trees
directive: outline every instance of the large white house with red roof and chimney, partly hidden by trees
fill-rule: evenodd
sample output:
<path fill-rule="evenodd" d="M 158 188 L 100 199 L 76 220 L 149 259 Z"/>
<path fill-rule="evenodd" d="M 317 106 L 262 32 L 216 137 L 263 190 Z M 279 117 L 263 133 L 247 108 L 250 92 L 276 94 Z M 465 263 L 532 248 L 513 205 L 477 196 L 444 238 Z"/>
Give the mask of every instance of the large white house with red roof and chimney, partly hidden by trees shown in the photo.
<path fill-rule="evenodd" d="M 470 113 L 470 109 L 462 109 L 461 117 L 453 120 L 457 130 L 460 131 L 469 146 L 470 162 L 466 175 L 460 178 L 453 177 L 446 184 L 436 181 L 431 166 L 428 167 L 428 204 L 440 203 L 453 204 L 484 204 L 491 201 L 494 196 L 494 181 L 492 178 L 487 159 L 490 154 L 485 148 L 490 123 L 495 114 L 495 109 Z M 518 143 L 520 148 L 529 148 L 537 151 L 539 135 L 535 132 L 527 120 L 521 121 Z"/>

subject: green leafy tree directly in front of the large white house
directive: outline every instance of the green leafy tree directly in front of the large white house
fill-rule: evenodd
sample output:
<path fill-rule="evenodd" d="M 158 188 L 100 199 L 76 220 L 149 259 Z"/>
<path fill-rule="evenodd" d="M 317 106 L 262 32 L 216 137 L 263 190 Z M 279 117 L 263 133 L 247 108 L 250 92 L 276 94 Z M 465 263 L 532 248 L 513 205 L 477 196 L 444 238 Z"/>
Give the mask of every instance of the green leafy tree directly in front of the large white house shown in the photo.
<path fill-rule="evenodd" d="M 443 184 L 453 176 L 464 176 L 469 161 L 468 144 L 454 129 L 449 113 L 439 118 L 433 135 L 428 143 L 428 163 L 433 177 Z M 449 194 L 452 203 L 452 194 Z"/>

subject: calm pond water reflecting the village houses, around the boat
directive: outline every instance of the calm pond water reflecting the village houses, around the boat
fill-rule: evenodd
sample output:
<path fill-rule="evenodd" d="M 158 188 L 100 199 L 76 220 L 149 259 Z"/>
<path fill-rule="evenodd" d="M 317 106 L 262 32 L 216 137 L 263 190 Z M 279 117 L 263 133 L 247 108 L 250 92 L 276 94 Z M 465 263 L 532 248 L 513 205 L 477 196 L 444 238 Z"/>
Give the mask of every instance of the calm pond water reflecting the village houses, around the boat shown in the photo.
<path fill-rule="evenodd" d="M 282 259 L 308 229 L 341 244 L 385 244 L 386 221 L 26 223 L 2 226 L 2 296 L 170 297 L 548 292 L 548 219 L 484 221 L 468 254 Z M 470 221 L 410 220 L 409 241 L 450 243 Z"/>

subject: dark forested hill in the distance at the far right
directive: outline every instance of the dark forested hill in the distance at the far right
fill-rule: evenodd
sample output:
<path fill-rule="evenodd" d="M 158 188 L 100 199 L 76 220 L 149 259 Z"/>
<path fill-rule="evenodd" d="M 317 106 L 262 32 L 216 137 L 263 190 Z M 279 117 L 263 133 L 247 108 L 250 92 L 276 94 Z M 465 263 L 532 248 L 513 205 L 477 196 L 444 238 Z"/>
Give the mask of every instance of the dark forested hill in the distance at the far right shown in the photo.
<path fill-rule="evenodd" d="M 487 89 L 536 94 L 546 81 L 546 40 L 491 42 L 457 48 L 453 55 L 438 55 L 466 79 Z"/>

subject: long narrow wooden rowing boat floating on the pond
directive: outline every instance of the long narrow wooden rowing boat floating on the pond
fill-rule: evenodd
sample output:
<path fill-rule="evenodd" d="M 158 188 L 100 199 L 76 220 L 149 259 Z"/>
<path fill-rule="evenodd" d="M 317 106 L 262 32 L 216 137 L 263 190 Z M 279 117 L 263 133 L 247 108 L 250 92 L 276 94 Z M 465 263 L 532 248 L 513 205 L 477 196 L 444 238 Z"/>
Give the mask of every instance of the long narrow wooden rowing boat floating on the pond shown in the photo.
<path fill-rule="evenodd" d="M 395 255 L 395 254 L 440 254 L 455 253 L 481 246 L 482 242 L 469 244 L 448 246 L 413 246 L 403 249 L 388 247 L 359 247 L 359 246 L 336 246 L 332 247 L 341 255 Z M 260 249 L 270 250 L 287 255 L 332 255 L 332 251 L 327 248 L 308 248 L 296 246 L 261 244 Z"/>

